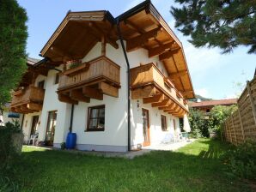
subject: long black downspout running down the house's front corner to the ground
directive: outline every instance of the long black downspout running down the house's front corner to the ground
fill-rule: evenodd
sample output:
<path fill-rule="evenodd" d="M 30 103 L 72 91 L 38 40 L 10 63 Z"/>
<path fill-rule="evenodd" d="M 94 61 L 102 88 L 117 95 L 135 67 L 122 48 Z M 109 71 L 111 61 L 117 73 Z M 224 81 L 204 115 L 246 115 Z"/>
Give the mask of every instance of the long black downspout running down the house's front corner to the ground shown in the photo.
<path fill-rule="evenodd" d="M 131 72 L 130 72 L 130 63 L 127 57 L 127 53 L 125 51 L 124 39 L 119 27 L 119 19 L 117 19 L 117 28 L 119 33 L 119 39 L 120 39 L 124 56 L 125 56 L 125 62 L 127 65 L 128 151 L 131 151 L 131 96 L 130 96 Z"/>

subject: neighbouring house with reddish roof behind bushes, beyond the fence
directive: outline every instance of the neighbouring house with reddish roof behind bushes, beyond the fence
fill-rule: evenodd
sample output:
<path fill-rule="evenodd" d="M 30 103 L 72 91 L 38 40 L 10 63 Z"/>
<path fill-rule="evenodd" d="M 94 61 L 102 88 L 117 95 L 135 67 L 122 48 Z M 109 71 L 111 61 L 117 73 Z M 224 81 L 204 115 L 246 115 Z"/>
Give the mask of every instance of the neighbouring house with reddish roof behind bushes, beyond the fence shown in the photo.
<path fill-rule="evenodd" d="M 189 102 L 189 107 L 208 113 L 216 105 L 231 106 L 236 104 L 237 104 L 237 99 L 219 99 L 219 100 L 204 100 L 204 101 L 198 101 L 198 102 Z"/>

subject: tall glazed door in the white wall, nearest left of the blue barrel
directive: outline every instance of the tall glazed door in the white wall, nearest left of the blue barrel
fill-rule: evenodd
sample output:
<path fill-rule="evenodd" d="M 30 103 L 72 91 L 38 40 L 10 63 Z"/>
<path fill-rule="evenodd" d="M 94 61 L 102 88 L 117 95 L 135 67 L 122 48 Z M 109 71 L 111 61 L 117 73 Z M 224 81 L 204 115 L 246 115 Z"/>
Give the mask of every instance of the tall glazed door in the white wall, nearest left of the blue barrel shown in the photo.
<path fill-rule="evenodd" d="M 49 111 L 46 129 L 46 145 L 53 145 L 54 131 L 56 126 L 57 111 Z"/>

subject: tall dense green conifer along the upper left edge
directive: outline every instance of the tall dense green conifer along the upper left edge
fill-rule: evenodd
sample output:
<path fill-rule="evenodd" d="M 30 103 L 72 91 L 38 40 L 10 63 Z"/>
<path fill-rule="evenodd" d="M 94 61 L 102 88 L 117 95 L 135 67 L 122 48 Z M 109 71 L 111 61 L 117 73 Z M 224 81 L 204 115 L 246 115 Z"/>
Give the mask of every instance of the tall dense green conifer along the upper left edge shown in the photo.
<path fill-rule="evenodd" d="M 27 14 L 16 0 L 0 0 L 0 108 L 25 72 Z"/>

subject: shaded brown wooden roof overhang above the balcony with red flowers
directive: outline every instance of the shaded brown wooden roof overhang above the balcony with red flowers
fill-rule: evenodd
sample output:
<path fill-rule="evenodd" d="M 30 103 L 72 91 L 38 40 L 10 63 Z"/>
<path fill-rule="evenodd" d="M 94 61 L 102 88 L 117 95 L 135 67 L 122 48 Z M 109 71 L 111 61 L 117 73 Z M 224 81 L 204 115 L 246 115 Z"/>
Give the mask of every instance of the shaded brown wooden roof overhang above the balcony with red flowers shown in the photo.
<path fill-rule="evenodd" d="M 82 59 L 94 45 L 101 41 L 118 47 L 113 16 L 105 10 L 69 12 L 52 37 L 40 51 L 42 57 L 53 62 Z"/>

